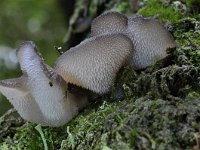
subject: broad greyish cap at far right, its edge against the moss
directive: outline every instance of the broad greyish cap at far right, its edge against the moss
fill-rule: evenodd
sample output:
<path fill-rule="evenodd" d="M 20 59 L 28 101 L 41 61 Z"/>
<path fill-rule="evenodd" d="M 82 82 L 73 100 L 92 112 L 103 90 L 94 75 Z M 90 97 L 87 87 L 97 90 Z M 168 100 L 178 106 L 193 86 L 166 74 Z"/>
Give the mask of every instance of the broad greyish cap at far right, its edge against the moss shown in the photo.
<path fill-rule="evenodd" d="M 176 47 L 172 35 L 153 18 L 131 17 L 125 34 L 132 40 L 135 53 L 130 65 L 143 69 L 165 58 L 167 50 Z"/>

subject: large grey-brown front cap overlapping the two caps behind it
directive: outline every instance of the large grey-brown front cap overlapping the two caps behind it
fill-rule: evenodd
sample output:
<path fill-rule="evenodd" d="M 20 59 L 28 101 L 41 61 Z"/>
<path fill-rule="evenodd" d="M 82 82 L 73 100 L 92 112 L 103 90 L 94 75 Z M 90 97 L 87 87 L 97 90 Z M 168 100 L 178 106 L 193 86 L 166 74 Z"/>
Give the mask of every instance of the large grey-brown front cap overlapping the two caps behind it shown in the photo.
<path fill-rule="evenodd" d="M 92 37 L 61 55 L 55 70 L 65 81 L 103 94 L 110 90 L 132 50 L 132 42 L 123 34 Z"/>

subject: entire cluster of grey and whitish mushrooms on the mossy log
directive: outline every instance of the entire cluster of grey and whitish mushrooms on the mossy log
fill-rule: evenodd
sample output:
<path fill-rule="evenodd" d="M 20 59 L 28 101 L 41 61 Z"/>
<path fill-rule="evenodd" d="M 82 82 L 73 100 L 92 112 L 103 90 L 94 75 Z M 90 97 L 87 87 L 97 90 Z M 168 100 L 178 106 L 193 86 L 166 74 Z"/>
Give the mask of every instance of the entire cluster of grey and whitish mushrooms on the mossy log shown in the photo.
<path fill-rule="evenodd" d="M 33 42 L 22 43 L 17 58 L 23 75 L 1 80 L 0 92 L 25 120 L 60 126 L 88 103 L 87 93 L 71 92 L 69 84 L 104 94 L 122 67 L 146 68 L 174 47 L 154 19 L 105 13 L 92 22 L 90 37 L 62 54 L 54 68 L 44 64 Z"/>

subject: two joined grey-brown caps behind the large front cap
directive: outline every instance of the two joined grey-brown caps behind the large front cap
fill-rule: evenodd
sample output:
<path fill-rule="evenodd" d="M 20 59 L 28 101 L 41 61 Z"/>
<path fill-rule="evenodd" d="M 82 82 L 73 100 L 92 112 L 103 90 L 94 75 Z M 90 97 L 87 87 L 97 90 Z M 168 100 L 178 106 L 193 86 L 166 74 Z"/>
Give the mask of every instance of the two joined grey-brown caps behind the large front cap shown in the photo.
<path fill-rule="evenodd" d="M 129 17 L 109 12 L 100 15 L 91 24 L 91 36 L 122 33 L 133 42 L 134 53 L 129 64 L 134 69 L 144 69 L 167 56 L 175 48 L 172 35 L 153 18 Z"/>

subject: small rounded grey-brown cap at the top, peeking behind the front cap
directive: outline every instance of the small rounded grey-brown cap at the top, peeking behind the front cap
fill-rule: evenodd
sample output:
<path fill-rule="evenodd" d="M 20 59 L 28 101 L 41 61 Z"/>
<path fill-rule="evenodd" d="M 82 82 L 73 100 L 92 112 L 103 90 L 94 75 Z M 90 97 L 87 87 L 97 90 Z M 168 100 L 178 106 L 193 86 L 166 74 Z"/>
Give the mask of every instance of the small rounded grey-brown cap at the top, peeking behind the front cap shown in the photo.
<path fill-rule="evenodd" d="M 91 36 L 122 33 L 126 30 L 128 18 L 118 12 L 104 13 L 92 21 Z"/>

